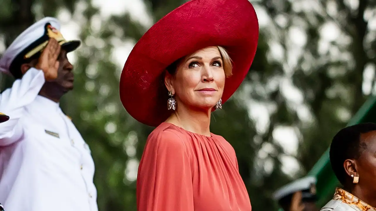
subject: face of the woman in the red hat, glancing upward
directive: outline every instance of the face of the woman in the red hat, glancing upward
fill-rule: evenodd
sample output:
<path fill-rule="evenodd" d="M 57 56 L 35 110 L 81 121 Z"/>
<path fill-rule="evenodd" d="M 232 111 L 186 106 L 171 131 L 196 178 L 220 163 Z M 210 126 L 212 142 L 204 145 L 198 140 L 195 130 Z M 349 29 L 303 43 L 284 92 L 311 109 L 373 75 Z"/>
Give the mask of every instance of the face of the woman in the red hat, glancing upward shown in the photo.
<path fill-rule="evenodd" d="M 172 91 L 177 107 L 209 110 L 220 100 L 226 77 L 217 47 L 207 47 L 186 56 L 175 75 L 166 74 L 165 85 Z"/>

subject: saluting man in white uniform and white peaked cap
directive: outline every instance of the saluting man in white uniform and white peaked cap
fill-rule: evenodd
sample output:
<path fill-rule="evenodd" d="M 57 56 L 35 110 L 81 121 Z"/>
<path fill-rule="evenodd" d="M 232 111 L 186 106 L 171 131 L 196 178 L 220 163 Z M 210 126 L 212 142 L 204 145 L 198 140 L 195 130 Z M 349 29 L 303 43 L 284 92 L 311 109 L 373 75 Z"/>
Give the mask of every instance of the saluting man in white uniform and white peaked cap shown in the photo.
<path fill-rule="evenodd" d="M 3 54 L 0 71 L 17 80 L 0 95 L 0 203 L 6 211 L 97 211 L 88 145 L 59 107 L 73 89 L 66 41 L 55 18 L 26 29 Z"/>

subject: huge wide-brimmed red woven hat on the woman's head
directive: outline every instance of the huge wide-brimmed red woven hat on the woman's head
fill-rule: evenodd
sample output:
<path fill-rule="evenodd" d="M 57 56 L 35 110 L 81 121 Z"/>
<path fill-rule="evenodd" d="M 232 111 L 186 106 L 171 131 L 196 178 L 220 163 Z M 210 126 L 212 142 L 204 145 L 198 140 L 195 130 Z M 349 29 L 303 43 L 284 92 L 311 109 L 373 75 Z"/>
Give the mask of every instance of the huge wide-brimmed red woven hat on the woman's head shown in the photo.
<path fill-rule="evenodd" d="M 233 61 L 222 102 L 238 89 L 256 53 L 259 26 L 248 0 L 191 0 L 167 14 L 137 42 L 120 77 L 120 99 L 139 122 L 158 126 L 171 114 L 165 68 L 209 46 L 224 47 Z M 179 105 L 177 105 L 179 106 Z"/>

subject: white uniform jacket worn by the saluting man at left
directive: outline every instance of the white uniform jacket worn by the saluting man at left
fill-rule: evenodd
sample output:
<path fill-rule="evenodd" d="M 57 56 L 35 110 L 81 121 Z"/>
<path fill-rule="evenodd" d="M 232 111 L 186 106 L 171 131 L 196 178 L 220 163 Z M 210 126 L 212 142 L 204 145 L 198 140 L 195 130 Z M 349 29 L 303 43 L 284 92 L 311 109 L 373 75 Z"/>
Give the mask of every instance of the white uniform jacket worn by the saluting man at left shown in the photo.
<path fill-rule="evenodd" d="M 97 211 L 88 145 L 29 69 L 0 96 L 0 203 L 6 211 Z"/>

